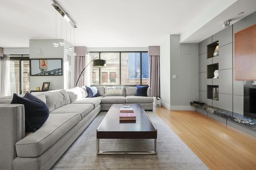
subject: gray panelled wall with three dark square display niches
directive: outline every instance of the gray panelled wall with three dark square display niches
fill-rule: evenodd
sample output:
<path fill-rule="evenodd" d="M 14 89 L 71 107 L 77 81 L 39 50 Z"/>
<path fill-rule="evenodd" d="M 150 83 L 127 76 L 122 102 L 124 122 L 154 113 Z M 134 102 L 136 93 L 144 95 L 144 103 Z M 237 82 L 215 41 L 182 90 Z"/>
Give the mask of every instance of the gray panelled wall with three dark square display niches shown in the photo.
<path fill-rule="evenodd" d="M 234 33 L 256 23 L 256 12 L 199 43 L 199 101 L 244 114 L 244 82 L 234 80 Z M 207 45 L 219 41 L 219 56 L 207 59 Z M 219 63 L 219 78 L 206 77 L 207 65 Z M 207 85 L 219 86 L 219 100 L 207 99 Z"/>

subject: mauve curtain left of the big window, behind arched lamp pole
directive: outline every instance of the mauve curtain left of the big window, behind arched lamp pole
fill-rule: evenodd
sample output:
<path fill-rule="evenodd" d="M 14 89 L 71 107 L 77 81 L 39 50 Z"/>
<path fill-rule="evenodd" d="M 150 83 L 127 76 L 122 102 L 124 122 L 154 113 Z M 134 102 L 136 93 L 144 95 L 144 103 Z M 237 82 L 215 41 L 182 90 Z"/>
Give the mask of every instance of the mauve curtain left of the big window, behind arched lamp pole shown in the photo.
<path fill-rule="evenodd" d="M 75 86 L 76 86 L 78 77 L 81 74 L 82 70 L 84 70 L 84 67 L 86 66 L 86 57 L 76 56 L 75 63 L 76 63 L 75 65 Z M 86 77 L 86 70 L 84 70 L 81 77 L 79 78 L 79 81 L 77 84 L 78 87 L 82 87 L 85 85 L 85 77 Z"/>

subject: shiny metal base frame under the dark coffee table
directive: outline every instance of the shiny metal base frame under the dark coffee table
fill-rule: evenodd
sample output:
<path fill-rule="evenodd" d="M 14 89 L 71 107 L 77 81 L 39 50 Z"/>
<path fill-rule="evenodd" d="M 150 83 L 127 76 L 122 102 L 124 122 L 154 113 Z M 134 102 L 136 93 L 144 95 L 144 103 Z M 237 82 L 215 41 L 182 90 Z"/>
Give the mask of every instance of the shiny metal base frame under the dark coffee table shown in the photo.
<path fill-rule="evenodd" d="M 110 152 L 110 151 L 100 151 L 100 139 L 97 139 L 96 152 L 99 154 L 157 154 L 157 139 L 155 139 L 154 151 L 145 152 Z"/>

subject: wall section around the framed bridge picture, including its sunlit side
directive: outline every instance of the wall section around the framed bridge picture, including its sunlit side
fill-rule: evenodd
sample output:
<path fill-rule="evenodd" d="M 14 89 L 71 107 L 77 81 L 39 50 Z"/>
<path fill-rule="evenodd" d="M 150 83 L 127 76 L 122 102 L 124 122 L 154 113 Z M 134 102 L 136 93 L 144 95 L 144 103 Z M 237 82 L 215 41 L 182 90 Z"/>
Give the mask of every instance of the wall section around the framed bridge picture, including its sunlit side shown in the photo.
<path fill-rule="evenodd" d="M 67 70 L 71 71 L 71 87 L 74 87 L 74 65 L 75 58 L 73 51 L 64 52 L 64 48 L 70 47 L 70 43 L 64 41 L 64 46 L 54 47 L 54 42 L 63 41 L 61 39 L 31 39 L 30 40 L 30 59 L 62 59 L 62 76 L 30 76 L 30 90 L 42 88 L 43 82 L 50 82 L 49 90 L 65 89 L 67 87 Z M 71 45 L 74 49 L 74 46 Z M 38 53 L 38 51 L 40 51 Z M 72 56 L 71 66 L 67 65 L 67 54 Z"/>

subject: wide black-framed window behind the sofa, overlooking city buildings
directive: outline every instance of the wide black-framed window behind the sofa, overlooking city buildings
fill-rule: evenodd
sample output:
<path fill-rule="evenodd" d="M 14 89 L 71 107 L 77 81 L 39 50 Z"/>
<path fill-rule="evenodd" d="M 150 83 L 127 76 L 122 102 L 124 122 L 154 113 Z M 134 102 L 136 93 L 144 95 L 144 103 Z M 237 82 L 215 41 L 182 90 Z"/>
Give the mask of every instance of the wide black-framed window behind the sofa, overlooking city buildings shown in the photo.
<path fill-rule="evenodd" d="M 90 52 L 90 61 L 95 57 L 106 60 L 106 68 L 94 68 L 92 62 L 91 85 L 148 84 L 148 52 Z"/>

